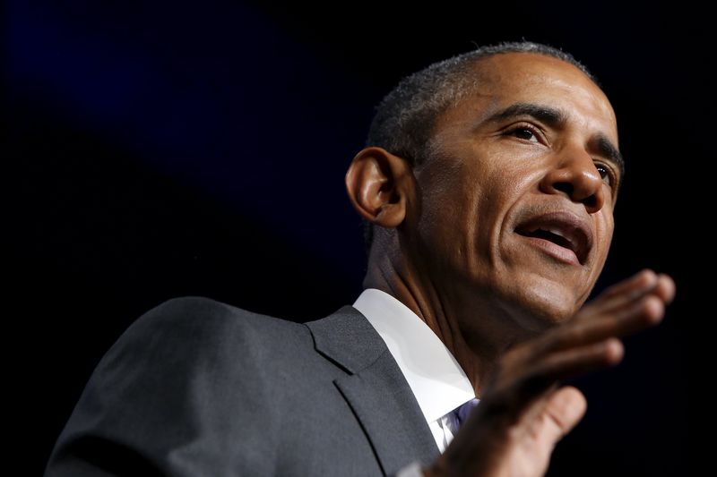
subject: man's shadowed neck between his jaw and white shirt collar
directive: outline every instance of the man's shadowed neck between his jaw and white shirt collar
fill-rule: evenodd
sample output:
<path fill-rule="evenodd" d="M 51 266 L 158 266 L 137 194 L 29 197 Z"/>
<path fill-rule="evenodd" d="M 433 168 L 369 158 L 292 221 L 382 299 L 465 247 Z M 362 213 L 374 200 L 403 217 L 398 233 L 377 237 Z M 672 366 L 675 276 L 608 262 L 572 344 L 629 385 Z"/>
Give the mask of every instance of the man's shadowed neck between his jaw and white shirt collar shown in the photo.
<path fill-rule="evenodd" d="M 393 249 L 395 250 L 395 249 Z M 418 315 L 466 373 L 476 396 L 481 396 L 491 372 L 506 349 L 523 339 L 509 313 L 476 297 L 465 302 L 459 291 L 437 287 L 434 278 L 422 273 L 398 252 L 372 249 L 364 288 L 376 288 L 405 304 Z"/>

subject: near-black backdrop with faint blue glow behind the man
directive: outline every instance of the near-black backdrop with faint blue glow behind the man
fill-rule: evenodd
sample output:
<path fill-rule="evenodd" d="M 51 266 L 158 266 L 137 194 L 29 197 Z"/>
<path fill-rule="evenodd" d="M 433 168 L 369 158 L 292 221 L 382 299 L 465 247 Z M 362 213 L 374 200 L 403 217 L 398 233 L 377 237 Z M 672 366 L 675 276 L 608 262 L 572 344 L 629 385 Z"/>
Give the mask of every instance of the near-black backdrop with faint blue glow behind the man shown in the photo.
<path fill-rule="evenodd" d="M 352 302 L 365 257 L 343 175 L 374 106 L 429 63 L 525 38 L 587 64 L 618 114 L 627 175 L 598 289 L 644 267 L 678 282 L 660 327 L 576 381 L 588 413 L 549 475 L 684 474 L 703 13 L 626 4 L 11 2 L 11 459 L 41 473 L 102 354 L 168 298 L 295 320 Z"/>

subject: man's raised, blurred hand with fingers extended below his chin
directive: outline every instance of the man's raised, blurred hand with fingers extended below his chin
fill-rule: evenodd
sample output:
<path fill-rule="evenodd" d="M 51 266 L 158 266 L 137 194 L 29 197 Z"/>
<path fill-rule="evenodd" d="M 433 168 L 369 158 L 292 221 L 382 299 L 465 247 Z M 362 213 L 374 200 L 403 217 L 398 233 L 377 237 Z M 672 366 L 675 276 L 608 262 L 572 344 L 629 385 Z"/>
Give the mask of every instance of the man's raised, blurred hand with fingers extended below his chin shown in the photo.
<path fill-rule="evenodd" d="M 587 403 L 560 380 L 620 362 L 619 340 L 659 324 L 675 284 L 643 270 L 611 286 L 574 319 L 514 346 L 497 365 L 480 404 L 425 474 L 531 477 L 548 470 L 557 441 Z"/>

